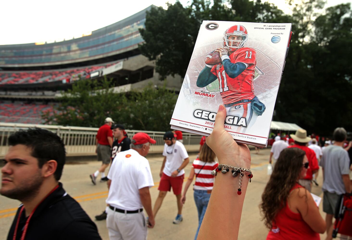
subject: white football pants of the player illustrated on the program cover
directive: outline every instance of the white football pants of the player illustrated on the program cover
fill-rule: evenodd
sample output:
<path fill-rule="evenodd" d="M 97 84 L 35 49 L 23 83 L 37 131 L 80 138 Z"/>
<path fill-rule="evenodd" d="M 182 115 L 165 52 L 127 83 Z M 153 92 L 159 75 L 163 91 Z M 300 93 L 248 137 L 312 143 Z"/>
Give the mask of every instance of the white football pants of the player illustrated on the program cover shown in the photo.
<path fill-rule="evenodd" d="M 251 103 L 243 104 L 243 105 L 235 105 L 226 108 L 227 116 L 235 116 L 235 117 L 244 117 L 246 118 L 247 127 L 238 126 L 237 132 L 244 133 L 247 129 L 250 129 L 253 124 L 256 122 L 258 115 L 251 108 Z M 235 128 L 236 129 L 236 128 Z"/>

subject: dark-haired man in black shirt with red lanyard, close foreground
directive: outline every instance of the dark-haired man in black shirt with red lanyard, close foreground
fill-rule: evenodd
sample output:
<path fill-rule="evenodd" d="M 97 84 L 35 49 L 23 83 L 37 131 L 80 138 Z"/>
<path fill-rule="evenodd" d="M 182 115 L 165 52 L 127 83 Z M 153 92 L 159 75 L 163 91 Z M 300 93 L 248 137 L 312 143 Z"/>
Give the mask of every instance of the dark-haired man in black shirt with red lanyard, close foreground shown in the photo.
<path fill-rule="evenodd" d="M 53 132 L 28 129 L 8 138 L 0 194 L 19 200 L 8 240 L 101 239 L 81 206 L 58 182 L 65 146 Z"/>

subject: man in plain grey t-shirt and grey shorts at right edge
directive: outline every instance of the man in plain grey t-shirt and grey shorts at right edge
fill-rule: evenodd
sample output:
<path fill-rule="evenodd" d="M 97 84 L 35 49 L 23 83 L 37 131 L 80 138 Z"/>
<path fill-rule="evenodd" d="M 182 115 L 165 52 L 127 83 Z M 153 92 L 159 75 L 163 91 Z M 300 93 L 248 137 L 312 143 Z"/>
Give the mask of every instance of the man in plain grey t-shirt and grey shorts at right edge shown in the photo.
<path fill-rule="evenodd" d="M 320 166 L 323 171 L 323 211 L 326 213 L 326 231 L 331 236 L 332 218 L 339 195 L 351 192 L 350 158 L 343 149 L 347 132 L 344 128 L 336 128 L 333 133 L 334 144 L 323 150 Z"/>

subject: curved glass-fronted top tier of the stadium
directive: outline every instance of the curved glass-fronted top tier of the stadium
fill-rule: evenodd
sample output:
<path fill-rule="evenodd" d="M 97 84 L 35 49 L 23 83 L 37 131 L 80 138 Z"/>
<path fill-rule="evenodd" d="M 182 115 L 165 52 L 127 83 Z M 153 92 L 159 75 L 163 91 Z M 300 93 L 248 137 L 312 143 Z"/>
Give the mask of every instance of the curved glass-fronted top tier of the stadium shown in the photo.
<path fill-rule="evenodd" d="M 72 64 L 135 50 L 143 42 L 138 29 L 144 28 L 146 11 L 151 7 L 153 5 L 81 38 L 42 45 L 0 45 L 0 67 L 5 70 L 9 67 Z"/>

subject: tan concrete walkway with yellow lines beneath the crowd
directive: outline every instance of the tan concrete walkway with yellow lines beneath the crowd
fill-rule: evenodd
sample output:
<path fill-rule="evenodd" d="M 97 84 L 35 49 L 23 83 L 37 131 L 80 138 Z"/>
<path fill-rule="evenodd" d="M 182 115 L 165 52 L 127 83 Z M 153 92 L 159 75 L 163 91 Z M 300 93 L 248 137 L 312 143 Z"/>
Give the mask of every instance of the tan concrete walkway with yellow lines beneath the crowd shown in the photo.
<path fill-rule="evenodd" d="M 251 169 L 253 172 L 252 182 L 247 188 L 246 198 L 244 202 L 241 225 L 238 239 L 265 239 L 268 229 L 265 228 L 261 221 L 258 205 L 261 201 L 261 195 L 269 176 L 266 175 L 266 167 L 269 160 L 270 149 L 260 150 L 260 153 L 252 154 Z M 187 179 L 191 163 L 196 155 L 190 155 L 190 163 L 186 167 Z M 150 167 L 155 182 L 155 187 L 150 189 L 152 197 L 152 205 L 158 195 L 159 171 L 162 164 L 163 157 L 161 155 L 150 155 L 147 157 L 150 162 Z M 77 201 L 88 213 L 90 218 L 94 220 L 98 226 L 99 233 L 104 240 L 108 240 L 108 231 L 106 228 L 106 221 L 96 221 L 94 216 L 101 214 L 105 209 L 105 199 L 107 197 L 107 187 L 105 183 L 98 182 L 96 186 L 92 184 L 89 179 L 89 174 L 93 173 L 100 166 L 100 162 L 96 161 L 80 161 L 68 162 L 65 165 L 61 182 L 65 190 Z M 100 178 L 100 176 L 99 176 Z M 318 196 L 322 196 L 321 184 L 322 177 L 319 175 L 319 187 L 313 186 L 312 192 Z M 186 195 L 187 200 L 183 207 L 183 222 L 179 225 L 172 224 L 172 220 L 176 217 L 177 206 L 176 197 L 168 193 L 164 199 L 163 205 L 156 216 L 155 228 L 149 229 L 148 239 L 194 239 L 194 234 L 198 226 L 197 210 L 193 199 L 193 190 L 190 188 Z M 19 201 L 8 199 L 0 196 L 0 239 L 6 239 L 8 229 L 10 229 L 13 221 L 15 211 L 19 205 Z M 320 211 L 322 203 L 320 204 Z M 322 213 L 325 218 L 325 213 Z M 214 230 L 215 231 L 215 230 Z M 325 235 L 321 235 L 324 239 Z"/>

